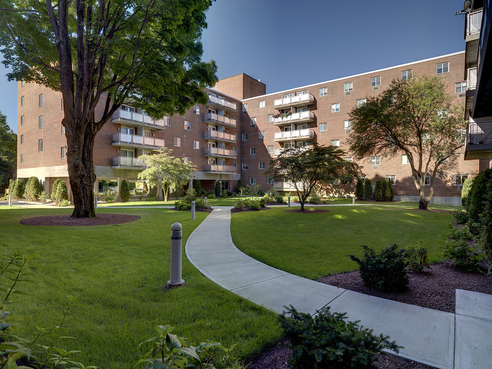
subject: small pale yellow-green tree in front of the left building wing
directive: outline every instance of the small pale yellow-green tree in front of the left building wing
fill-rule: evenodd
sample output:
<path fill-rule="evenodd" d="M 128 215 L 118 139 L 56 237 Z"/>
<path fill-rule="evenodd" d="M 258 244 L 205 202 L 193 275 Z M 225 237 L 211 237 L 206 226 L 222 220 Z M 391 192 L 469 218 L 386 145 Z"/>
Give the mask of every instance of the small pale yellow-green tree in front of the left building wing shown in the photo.
<path fill-rule="evenodd" d="M 154 155 L 141 155 L 138 160 L 146 169 L 138 173 L 138 179 L 148 180 L 152 187 L 157 187 L 156 199 L 168 200 L 173 187 L 186 185 L 193 176 L 196 167 L 191 161 L 171 155 L 172 150 L 162 148 Z"/>

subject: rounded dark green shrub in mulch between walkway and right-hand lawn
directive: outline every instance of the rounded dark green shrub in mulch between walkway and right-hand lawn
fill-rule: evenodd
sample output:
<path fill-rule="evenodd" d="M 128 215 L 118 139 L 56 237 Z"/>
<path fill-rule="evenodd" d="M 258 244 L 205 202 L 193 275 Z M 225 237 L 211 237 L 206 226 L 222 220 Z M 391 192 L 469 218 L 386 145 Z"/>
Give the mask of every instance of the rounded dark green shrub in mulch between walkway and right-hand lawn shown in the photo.
<path fill-rule="evenodd" d="M 359 264 L 359 274 L 365 286 L 386 292 L 403 291 L 408 287 L 410 280 L 405 270 L 405 250 L 398 249 L 395 243 L 379 254 L 367 246 L 362 248 L 362 259 L 355 255 L 350 255 L 350 258 Z"/>

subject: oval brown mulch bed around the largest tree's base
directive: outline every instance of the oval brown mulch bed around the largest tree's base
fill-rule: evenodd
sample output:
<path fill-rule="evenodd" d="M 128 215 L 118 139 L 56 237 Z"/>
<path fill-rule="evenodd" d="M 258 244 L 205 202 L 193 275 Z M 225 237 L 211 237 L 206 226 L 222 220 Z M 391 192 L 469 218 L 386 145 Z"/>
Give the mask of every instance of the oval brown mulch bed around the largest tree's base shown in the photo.
<path fill-rule="evenodd" d="M 96 218 L 72 218 L 65 215 L 46 215 L 19 220 L 20 224 L 27 226 L 107 226 L 108 224 L 121 224 L 140 219 L 137 215 L 128 214 L 98 214 Z"/>

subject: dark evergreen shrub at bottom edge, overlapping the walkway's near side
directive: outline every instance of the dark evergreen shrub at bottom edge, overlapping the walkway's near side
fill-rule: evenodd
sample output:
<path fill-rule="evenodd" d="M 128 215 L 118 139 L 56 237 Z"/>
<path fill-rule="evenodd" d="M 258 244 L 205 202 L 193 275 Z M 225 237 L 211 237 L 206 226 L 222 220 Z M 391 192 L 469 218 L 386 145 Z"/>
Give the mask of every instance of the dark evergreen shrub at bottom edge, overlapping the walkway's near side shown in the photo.
<path fill-rule="evenodd" d="M 389 336 L 348 321 L 346 313 L 331 313 L 330 306 L 312 317 L 285 306 L 280 324 L 291 342 L 290 365 L 296 369 L 370 369 L 384 349 L 399 352 L 401 346 Z"/>

